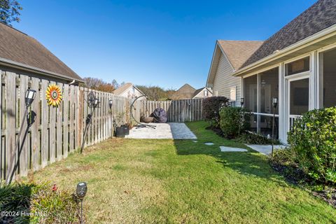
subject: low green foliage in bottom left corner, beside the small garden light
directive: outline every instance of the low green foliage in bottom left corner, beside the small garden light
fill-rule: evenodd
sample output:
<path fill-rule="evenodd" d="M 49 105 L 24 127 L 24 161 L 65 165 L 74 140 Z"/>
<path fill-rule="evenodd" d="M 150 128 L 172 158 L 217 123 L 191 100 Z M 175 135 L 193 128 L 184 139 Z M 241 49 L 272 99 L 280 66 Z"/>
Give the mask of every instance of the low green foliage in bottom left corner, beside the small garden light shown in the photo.
<path fill-rule="evenodd" d="M 72 193 L 47 183 L 0 183 L 0 211 L 15 211 L 0 223 L 79 223 L 78 203 Z"/>

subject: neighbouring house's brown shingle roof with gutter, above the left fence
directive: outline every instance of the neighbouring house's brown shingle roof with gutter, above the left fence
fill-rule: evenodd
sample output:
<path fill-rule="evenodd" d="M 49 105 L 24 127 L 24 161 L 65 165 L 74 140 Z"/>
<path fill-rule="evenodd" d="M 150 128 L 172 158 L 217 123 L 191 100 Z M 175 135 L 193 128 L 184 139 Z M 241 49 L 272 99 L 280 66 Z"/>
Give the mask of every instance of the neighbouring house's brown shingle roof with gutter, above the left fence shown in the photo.
<path fill-rule="evenodd" d="M 36 39 L 0 22 L 0 69 L 62 83 L 83 79 Z"/>

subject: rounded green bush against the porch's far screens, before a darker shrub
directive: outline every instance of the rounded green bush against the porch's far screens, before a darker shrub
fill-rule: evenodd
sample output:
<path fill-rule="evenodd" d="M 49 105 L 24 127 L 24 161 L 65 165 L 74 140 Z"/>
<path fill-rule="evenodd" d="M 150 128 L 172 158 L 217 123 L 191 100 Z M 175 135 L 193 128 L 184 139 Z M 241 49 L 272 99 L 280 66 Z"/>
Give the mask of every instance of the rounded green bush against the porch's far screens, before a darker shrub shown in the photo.
<path fill-rule="evenodd" d="M 224 107 L 219 114 L 220 127 L 225 138 L 235 138 L 250 126 L 250 114 L 241 107 Z"/>

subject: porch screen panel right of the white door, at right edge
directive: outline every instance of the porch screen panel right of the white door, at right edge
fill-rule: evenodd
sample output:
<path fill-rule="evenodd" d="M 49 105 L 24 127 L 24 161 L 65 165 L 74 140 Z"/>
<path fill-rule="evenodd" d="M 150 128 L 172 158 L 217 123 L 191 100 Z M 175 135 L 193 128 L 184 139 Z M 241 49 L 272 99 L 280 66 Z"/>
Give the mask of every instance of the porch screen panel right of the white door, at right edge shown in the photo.
<path fill-rule="evenodd" d="M 336 49 L 323 52 L 323 107 L 336 106 Z"/>

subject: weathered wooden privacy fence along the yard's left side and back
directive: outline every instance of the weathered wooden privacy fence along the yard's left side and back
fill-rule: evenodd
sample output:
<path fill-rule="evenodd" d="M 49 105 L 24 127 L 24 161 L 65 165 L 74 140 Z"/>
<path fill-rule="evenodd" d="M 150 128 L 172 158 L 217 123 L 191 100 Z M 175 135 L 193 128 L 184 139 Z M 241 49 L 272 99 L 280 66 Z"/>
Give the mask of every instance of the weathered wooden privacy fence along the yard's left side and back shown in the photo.
<path fill-rule="evenodd" d="M 109 92 L 99 92 L 84 87 L 68 85 L 11 71 L 1 71 L 0 90 L 0 179 L 18 165 L 15 175 L 26 176 L 52 162 L 66 158 L 80 147 L 83 140 L 85 120 L 90 108 L 87 104 L 89 92 L 94 92 L 100 104 L 92 116 L 92 125 L 87 130 L 85 146 L 113 137 L 115 125 L 130 123 L 132 100 L 118 97 Z M 58 107 L 48 106 L 45 90 L 48 85 L 57 84 L 62 90 L 63 100 Z M 36 90 L 36 98 L 29 107 L 34 114 L 34 123 L 22 126 L 20 143 L 15 147 L 22 118 L 25 113 L 25 92 Z M 109 100 L 113 106 L 109 108 Z M 168 113 L 169 122 L 184 122 L 202 119 L 202 99 L 153 102 L 137 101 L 134 115 L 149 116 L 155 108 L 161 107 Z M 14 161 L 14 162 L 10 162 Z"/>

